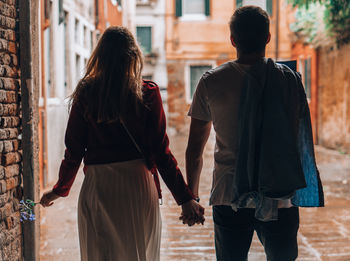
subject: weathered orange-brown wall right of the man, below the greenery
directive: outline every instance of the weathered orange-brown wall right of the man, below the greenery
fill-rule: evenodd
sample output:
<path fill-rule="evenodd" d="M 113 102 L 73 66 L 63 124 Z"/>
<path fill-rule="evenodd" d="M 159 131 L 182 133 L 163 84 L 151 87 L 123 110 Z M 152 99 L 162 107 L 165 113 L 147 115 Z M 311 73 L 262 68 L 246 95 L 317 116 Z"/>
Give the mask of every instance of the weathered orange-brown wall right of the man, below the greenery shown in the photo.
<path fill-rule="evenodd" d="M 309 101 L 314 140 L 350 153 L 350 45 L 335 47 L 331 38 L 325 38 L 314 47 L 305 43 L 302 34 L 293 38 L 292 57 Z"/>

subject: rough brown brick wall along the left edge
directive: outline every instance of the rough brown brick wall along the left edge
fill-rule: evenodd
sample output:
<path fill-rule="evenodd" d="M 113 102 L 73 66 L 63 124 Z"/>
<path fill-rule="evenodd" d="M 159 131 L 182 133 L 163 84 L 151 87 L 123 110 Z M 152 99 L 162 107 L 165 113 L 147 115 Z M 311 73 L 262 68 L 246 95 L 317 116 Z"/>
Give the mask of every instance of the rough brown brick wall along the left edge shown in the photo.
<path fill-rule="evenodd" d="M 22 260 L 17 1 L 0 0 L 0 260 Z"/>

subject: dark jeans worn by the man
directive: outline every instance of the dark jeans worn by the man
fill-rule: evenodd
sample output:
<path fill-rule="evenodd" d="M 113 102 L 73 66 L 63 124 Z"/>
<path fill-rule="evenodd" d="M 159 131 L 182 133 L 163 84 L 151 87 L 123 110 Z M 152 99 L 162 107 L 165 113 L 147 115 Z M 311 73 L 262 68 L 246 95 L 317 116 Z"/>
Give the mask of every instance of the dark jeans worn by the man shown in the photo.
<path fill-rule="evenodd" d="M 268 261 L 294 261 L 298 256 L 299 209 L 278 210 L 278 220 L 262 222 L 254 209 L 237 212 L 230 206 L 214 206 L 215 249 L 218 261 L 247 261 L 254 230 Z"/>

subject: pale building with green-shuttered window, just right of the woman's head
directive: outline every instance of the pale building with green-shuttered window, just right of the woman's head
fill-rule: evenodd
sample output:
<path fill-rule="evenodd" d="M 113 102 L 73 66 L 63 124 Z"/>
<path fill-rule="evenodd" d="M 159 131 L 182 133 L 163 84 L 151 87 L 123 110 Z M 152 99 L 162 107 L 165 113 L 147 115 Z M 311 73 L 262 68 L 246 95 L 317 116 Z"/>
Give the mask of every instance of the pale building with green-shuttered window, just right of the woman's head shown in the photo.
<path fill-rule="evenodd" d="M 165 0 L 136 1 L 136 37 L 145 57 L 143 78 L 155 81 L 166 100 Z"/>

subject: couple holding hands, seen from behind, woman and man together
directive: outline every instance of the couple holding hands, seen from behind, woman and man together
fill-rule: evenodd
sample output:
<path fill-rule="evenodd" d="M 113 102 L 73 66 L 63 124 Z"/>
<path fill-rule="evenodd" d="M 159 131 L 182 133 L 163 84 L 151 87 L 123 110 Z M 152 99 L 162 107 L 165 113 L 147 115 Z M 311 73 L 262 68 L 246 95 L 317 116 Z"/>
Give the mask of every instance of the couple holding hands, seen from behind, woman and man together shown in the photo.
<path fill-rule="evenodd" d="M 209 203 L 217 260 L 246 261 L 254 231 L 267 260 L 297 258 L 298 206 L 322 206 L 322 185 L 314 160 L 301 159 L 314 155 L 300 76 L 265 58 L 269 24 L 256 6 L 231 17 L 228 38 L 237 59 L 209 70 L 197 85 L 189 111 L 187 182 L 169 149 L 159 88 L 141 78 L 143 59 L 134 37 L 123 27 L 104 32 L 71 96 L 58 182 L 41 199 L 47 207 L 67 196 L 84 160 L 81 260 L 160 260 L 158 172 L 182 207 L 182 222 L 204 223 L 198 187 L 212 126 Z"/>

